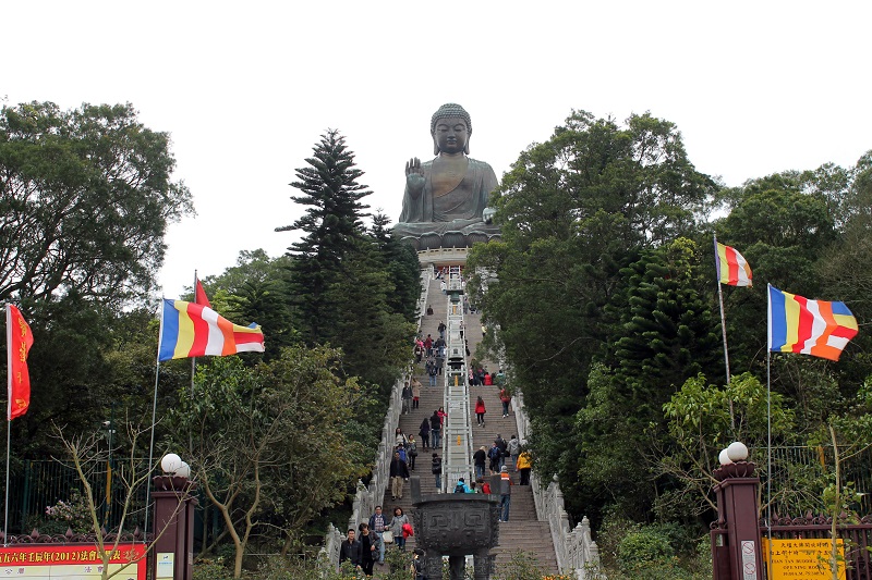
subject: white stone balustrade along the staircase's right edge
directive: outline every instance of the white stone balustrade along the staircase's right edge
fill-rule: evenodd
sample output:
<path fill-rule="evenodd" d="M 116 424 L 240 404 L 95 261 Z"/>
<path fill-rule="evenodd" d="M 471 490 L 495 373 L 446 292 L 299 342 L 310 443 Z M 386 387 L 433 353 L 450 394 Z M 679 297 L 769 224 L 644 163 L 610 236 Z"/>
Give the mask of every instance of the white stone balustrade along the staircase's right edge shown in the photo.
<path fill-rule="evenodd" d="M 518 424 L 518 439 L 526 441 L 531 429 L 530 418 L 524 409 L 523 394 L 516 392 L 511 405 Z M 552 531 L 559 569 L 565 573 L 572 571 L 579 580 L 601 578 L 600 548 L 591 536 L 591 523 L 585 516 L 581 523 L 574 529 L 571 528 L 557 477 L 555 476 L 547 485 L 543 485 L 533 471 L 530 473 L 530 485 L 536 504 L 536 517 L 540 521 L 547 521 Z"/>

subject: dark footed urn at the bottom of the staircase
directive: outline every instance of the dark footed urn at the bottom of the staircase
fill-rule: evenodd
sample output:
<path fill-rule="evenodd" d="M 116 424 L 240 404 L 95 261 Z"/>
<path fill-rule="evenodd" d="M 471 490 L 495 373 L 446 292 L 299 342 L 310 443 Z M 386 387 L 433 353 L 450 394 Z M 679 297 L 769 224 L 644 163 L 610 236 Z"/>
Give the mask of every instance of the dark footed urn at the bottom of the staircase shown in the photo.
<path fill-rule="evenodd" d="M 494 570 L 491 548 L 499 543 L 499 498 L 479 493 L 421 494 L 413 477 L 412 503 L 415 543 L 424 550 L 429 578 L 441 578 L 448 556 L 451 580 L 463 580 L 467 555 L 473 556 L 475 580 L 489 580 Z"/>

